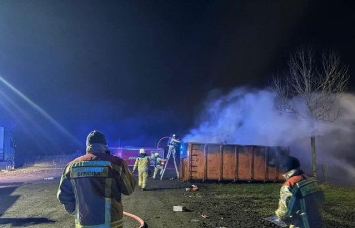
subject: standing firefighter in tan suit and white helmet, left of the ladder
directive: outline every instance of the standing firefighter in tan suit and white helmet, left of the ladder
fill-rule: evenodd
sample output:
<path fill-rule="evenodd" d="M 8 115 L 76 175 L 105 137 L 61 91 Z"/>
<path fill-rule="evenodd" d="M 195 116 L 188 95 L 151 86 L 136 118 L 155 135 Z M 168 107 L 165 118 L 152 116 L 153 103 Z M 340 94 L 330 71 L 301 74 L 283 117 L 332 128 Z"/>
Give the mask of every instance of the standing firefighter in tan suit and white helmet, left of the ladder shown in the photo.
<path fill-rule="evenodd" d="M 148 171 L 149 171 L 150 158 L 147 156 L 146 151 L 141 148 L 139 150 L 139 157 L 135 160 L 133 173 L 138 167 L 138 186 L 141 191 L 146 191 Z"/>

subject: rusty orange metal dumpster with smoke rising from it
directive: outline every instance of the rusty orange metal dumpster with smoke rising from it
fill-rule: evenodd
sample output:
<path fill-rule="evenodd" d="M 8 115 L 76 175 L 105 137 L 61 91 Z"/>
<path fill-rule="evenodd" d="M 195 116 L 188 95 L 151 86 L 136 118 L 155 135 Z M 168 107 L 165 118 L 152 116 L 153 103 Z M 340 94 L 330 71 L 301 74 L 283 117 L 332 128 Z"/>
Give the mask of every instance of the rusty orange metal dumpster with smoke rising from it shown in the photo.
<path fill-rule="evenodd" d="M 288 147 L 185 143 L 180 158 L 179 179 L 212 181 L 278 181 L 278 161 Z"/>

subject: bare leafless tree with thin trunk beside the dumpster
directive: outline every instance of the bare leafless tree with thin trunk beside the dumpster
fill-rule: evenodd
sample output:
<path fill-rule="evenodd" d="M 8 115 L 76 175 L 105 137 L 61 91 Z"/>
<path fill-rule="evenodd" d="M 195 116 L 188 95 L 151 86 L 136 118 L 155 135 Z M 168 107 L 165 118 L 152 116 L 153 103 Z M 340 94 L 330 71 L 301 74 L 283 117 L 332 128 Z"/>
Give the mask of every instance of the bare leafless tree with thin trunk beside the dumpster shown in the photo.
<path fill-rule="evenodd" d="M 277 95 L 277 109 L 310 120 L 335 121 L 339 100 L 349 79 L 348 66 L 334 51 L 320 56 L 312 47 L 302 47 L 290 54 L 289 72 L 273 78 L 271 88 Z M 313 175 L 317 175 L 315 132 L 310 132 Z"/>

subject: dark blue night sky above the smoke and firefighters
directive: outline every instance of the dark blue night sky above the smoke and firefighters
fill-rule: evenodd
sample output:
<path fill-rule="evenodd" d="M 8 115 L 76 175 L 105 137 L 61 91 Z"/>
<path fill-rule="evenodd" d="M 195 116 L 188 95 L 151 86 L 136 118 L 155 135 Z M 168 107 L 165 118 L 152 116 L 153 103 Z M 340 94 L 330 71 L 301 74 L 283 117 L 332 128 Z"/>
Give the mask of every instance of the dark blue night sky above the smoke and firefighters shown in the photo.
<path fill-rule="evenodd" d="M 0 75 L 83 144 L 90 130 L 99 129 L 111 145 L 121 138 L 124 145 L 154 146 L 155 138 L 193 127 L 210 91 L 268 86 L 299 45 L 335 49 L 353 74 L 354 6 L 300 0 L 1 1 Z M 353 78 L 349 87 L 355 89 Z M 31 127 L 29 120 L 45 132 L 51 125 L 1 88 L 27 114 L 24 121 L 18 111 L 1 112 L 0 120 L 15 123 L 22 144 L 33 137 L 63 143 L 53 140 L 61 137 L 55 130 L 44 137 Z M 31 137 L 20 134 L 26 126 Z"/>

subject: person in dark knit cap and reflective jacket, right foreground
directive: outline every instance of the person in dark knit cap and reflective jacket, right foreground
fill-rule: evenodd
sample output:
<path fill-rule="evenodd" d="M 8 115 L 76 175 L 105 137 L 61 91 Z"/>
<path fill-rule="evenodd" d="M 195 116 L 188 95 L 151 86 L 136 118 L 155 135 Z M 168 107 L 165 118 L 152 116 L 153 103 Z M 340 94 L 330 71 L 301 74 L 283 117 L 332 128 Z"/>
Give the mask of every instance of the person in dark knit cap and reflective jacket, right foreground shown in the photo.
<path fill-rule="evenodd" d="M 281 187 L 276 216 L 290 227 L 323 227 L 321 203 L 324 195 L 318 180 L 305 174 L 295 157 L 284 157 L 280 167 L 285 172 L 286 182 Z"/>

